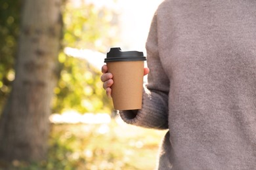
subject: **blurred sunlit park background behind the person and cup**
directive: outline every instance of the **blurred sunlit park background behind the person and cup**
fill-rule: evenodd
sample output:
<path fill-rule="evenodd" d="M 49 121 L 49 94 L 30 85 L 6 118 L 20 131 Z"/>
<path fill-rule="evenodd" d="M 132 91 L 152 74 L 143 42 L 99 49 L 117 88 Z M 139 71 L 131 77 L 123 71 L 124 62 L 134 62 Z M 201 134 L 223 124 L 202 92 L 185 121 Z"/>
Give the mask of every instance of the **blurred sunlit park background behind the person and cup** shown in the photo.
<path fill-rule="evenodd" d="M 166 131 L 127 125 L 100 81 L 144 52 L 162 0 L 0 0 L 0 169 L 154 169 Z"/>

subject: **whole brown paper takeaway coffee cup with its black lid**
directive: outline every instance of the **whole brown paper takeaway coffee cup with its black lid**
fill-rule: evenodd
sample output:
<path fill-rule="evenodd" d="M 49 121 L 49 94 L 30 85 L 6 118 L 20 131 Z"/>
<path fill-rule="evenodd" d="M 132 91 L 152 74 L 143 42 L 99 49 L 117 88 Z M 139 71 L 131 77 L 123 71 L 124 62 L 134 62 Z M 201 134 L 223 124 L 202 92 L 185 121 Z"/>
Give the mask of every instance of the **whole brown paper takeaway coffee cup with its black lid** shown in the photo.
<path fill-rule="evenodd" d="M 113 75 L 111 88 L 114 109 L 141 109 L 145 60 L 143 52 L 110 48 L 104 62 L 108 72 Z"/>

